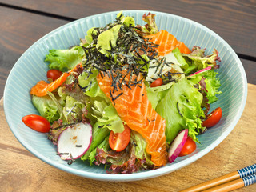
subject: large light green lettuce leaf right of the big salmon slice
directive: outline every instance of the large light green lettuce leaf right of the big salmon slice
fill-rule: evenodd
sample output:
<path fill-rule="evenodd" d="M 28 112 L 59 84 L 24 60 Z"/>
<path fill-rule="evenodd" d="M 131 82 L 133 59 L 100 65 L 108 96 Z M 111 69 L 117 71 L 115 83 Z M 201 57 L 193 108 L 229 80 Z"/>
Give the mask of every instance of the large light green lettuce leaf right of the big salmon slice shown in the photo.
<path fill-rule="evenodd" d="M 196 135 L 202 129 L 204 112 L 202 94 L 185 78 L 174 83 L 158 103 L 156 111 L 166 119 L 166 141 L 172 142 L 178 132 L 189 130 L 189 136 L 198 142 Z"/>

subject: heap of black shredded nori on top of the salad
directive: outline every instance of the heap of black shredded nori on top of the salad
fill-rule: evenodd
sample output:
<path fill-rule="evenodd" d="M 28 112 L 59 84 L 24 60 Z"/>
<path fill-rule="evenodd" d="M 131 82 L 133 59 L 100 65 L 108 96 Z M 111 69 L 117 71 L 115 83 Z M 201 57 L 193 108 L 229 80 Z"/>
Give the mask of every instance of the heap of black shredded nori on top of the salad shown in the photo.
<path fill-rule="evenodd" d="M 157 45 L 150 42 L 149 39 L 140 36 L 135 31 L 134 26 L 126 25 L 122 25 L 119 30 L 116 46 L 113 46 L 110 41 L 110 50 L 107 50 L 109 54 L 102 54 L 99 51 L 101 48 L 96 48 L 98 35 L 119 24 L 122 24 L 121 18 L 117 18 L 113 23 L 105 27 L 94 28 L 96 34 L 92 33 L 92 43 L 89 46 L 83 46 L 83 50 L 85 51 L 85 58 L 83 60 L 84 69 L 86 71 L 90 70 L 90 74 L 92 74 L 91 69 L 97 69 L 98 75 L 101 78 L 104 78 L 105 75 L 112 78 L 110 97 L 113 102 L 120 97 L 120 94 L 118 94 L 114 98 L 114 92 L 118 90 L 122 91 L 123 85 L 129 89 L 131 89 L 131 86 L 138 85 L 141 87 L 139 84 L 146 78 L 146 69 L 149 66 L 149 61 L 157 55 L 157 50 L 155 49 Z M 142 54 L 146 54 L 149 61 L 143 58 Z M 139 74 L 142 74 L 142 79 L 138 81 L 137 77 Z M 127 78 L 127 75 L 130 75 L 130 78 Z M 80 88 L 86 90 L 88 86 L 80 86 Z"/>

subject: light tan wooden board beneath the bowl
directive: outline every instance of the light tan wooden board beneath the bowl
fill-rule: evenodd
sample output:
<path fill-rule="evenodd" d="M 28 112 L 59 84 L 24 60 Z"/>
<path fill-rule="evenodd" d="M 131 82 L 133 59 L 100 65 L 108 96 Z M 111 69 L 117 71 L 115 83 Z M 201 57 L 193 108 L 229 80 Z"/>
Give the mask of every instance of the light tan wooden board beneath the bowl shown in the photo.
<path fill-rule="evenodd" d="M 0 191 L 178 191 L 256 163 L 256 86 L 248 84 L 237 126 L 214 150 L 173 173 L 138 182 L 100 182 L 58 170 L 30 154 L 7 125 L 0 101 Z M 256 184 L 235 190 L 256 191 Z"/>

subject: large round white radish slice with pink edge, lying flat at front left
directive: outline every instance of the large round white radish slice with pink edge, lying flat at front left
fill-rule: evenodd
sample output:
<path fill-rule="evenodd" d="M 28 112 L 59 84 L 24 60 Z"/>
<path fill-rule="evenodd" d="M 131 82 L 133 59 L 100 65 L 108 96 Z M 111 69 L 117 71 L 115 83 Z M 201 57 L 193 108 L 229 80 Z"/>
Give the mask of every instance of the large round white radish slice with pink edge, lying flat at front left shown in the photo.
<path fill-rule="evenodd" d="M 79 122 L 58 136 L 58 154 L 63 160 L 80 158 L 89 149 L 91 141 L 92 127 L 89 123 Z"/>

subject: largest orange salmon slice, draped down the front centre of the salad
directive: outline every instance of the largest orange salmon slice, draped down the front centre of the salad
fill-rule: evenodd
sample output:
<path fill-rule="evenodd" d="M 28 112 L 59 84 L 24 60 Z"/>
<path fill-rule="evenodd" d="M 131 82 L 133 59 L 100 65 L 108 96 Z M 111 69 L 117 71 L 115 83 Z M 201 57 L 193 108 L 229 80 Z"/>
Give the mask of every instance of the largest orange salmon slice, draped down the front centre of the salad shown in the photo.
<path fill-rule="evenodd" d="M 126 78 L 129 79 L 129 75 Z M 141 79 L 142 75 L 138 77 L 133 75 L 132 81 L 135 78 Z M 122 90 L 118 89 L 113 93 L 111 77 L 98 75 L 97 81 L 101 90 L 112 101 L 122 121 L 146 139 L 146 151 L 151 155 L 154 165 L 166 165 L 166 121 L 151 106 L 144 83 L 141 82 L 130 88 L 122 84 Z"/>

